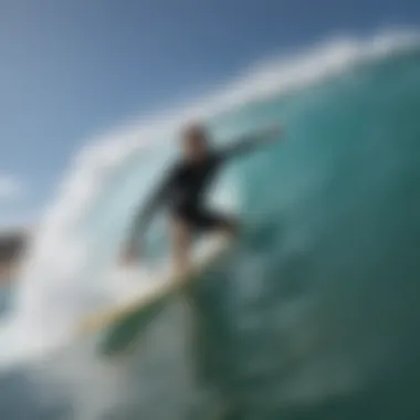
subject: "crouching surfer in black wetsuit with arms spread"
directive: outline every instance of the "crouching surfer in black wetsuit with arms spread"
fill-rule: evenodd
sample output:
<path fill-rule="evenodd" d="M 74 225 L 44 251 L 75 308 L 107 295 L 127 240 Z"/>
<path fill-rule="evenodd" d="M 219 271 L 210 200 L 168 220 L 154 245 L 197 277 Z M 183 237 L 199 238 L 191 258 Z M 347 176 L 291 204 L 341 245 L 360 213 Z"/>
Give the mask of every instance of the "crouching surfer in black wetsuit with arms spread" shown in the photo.
<path fill-rule="evenodd" d="M 280 134 L 279 128 L 270 128 L 240 138 L 221 150 L 214 150 L 203 125 L 188 126 L 181 136 L 182 157 L 168 171 L 164 182 L 135 218 L 132 235 L 124 248 L 124 260 L 133 262 L 138 256 L 141 238 L 154 214 L 162 207 L 169 210 L 176 270 L 183 271 L 189 266 L 190 243 L 196 233 L 221 232 L 234 237 L 239 230 L 238 221 L 209 210 L 204 204 L 206 192 L 228 160 L 277 139 Z"/>

